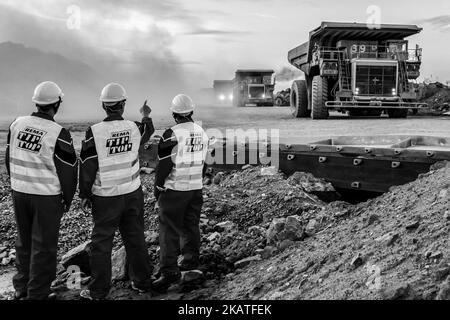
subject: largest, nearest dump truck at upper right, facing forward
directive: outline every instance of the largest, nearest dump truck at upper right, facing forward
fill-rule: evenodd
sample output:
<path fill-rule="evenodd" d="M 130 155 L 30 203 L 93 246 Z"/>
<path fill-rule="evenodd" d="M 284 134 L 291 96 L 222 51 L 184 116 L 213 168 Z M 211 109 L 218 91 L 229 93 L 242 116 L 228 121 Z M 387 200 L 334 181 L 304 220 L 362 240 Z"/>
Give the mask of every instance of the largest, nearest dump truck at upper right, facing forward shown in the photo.
<path fill-rule="evenodd" d="M 325 119 L 329 110 L 352 116 L 406 118 L 418 102 L 413 80 L 420 76 L 422 49 L 409 48 L 415 25 L 322 22 L 309 41 L 290 50 L 288 60 L 305 74 L 294 81 L 294 117 Z"/>

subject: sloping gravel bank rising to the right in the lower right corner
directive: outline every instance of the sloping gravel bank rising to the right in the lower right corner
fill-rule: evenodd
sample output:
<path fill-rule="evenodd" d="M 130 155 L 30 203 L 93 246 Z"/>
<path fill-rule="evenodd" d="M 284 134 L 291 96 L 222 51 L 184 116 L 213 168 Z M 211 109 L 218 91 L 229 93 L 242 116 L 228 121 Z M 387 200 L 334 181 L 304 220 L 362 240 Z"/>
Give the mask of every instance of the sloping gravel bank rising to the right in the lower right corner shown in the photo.
<path fill-rule="evenodd" d="M 366 203 L 329 206 L 327 228 L 211 297 L 450 299 L 450 165 L 441 167 Z"/>

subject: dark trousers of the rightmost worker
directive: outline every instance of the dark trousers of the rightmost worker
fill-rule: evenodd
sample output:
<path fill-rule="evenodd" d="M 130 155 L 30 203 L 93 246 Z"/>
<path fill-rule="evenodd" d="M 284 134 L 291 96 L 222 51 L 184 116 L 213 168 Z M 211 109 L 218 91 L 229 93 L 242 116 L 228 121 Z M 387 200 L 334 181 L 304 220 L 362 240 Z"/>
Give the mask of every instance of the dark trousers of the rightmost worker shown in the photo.
<path fill-rule="evenodd" d="M 198 262 L 203 192 L 169 189 L 161 193 L 158 202 L 161 273 L 178 273 L 180 252 L 185 262 Z"/>

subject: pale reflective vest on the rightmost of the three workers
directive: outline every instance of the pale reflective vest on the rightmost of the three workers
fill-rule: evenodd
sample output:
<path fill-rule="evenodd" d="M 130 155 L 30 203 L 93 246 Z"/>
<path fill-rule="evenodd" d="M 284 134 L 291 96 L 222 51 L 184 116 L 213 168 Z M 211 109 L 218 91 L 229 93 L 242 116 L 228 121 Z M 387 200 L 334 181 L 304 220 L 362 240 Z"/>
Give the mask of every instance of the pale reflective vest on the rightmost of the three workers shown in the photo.
<path fill-rule="evenodd" d="M 171 128 L 177 145 L 172 151 L 174 167 L 164 187 L 175 191 L 203 188 L 203 165 L 208 152 L 208 136 L 198 124 L 185 122 Z"/>

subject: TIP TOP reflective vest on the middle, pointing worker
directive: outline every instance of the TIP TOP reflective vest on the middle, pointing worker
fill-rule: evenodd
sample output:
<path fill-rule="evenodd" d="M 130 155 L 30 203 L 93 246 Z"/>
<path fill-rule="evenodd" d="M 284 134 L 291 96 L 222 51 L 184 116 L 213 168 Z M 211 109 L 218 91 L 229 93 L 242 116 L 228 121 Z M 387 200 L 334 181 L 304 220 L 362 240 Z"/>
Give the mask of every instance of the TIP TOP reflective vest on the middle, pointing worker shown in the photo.
<path fill-rule="evenodd" d="M 91 127 L 98 155 L 98 171 L 92 193 L 113 197 L 136 191 L 139 177 L 141 133 L 128 120 L 104 121 Z"/>

